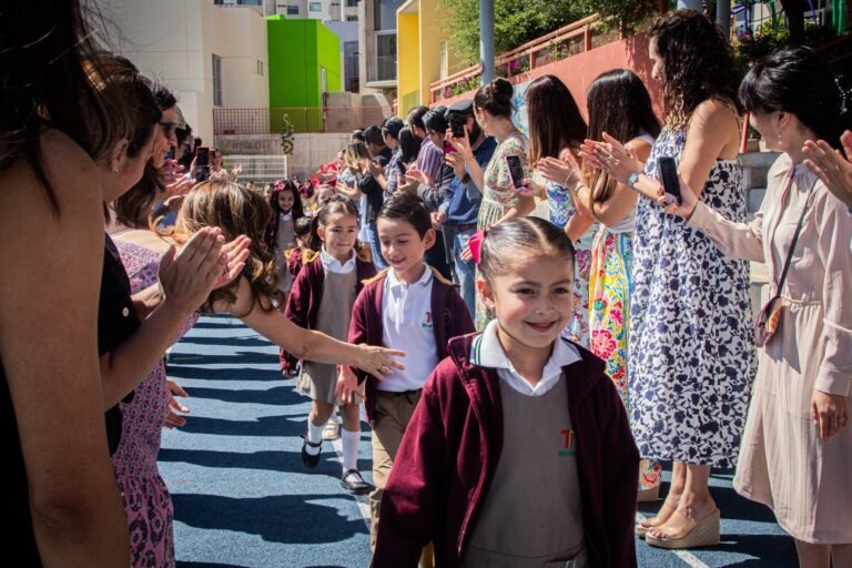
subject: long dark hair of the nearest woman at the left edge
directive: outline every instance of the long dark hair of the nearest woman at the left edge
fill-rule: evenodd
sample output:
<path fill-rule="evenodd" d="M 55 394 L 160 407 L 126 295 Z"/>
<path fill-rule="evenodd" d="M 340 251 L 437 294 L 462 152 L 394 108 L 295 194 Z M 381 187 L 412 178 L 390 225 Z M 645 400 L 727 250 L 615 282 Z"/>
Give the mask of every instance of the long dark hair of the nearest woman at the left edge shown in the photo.
<path fill-rule="evenodd" d="M 130 131 L 131 109 L 98 88 L 109 78 L 79 0 L 3 2 L 0 18 L 0 171 L 24 159 L 54 211 L 39 140 L 54 128 L 99 158 Z"/>

